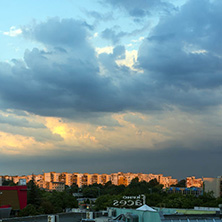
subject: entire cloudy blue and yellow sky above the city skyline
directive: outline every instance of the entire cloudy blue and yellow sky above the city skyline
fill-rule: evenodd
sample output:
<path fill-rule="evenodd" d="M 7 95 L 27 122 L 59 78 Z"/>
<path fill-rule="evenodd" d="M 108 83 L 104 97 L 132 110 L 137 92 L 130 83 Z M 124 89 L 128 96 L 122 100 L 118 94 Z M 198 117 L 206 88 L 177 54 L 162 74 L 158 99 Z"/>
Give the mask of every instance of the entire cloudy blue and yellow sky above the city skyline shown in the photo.
<path fill-rule="evenodd" d="M 0 175 L 221 175 L 221 11 L 1 0 Z"/>

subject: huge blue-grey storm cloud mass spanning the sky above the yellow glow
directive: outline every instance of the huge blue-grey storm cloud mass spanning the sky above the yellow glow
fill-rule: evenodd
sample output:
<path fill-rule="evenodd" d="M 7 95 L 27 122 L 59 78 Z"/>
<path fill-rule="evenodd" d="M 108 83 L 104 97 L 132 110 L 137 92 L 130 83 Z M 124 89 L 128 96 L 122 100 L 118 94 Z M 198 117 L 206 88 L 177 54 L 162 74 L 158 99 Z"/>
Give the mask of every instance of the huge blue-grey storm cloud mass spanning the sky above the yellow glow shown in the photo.
<path fill-rule="evenodd" d="M 144 74 L 116 64 L 125 56 L 123 46 L 97 58 L 83 22 L 55 18 L 26 27 L 24 36 L 47 50 L 27 50 L 24 61 L 0 64 L 1 106 L 79 118 L 171 105 L 184 110 L 220 105 L 221 9 L 219 1 L 189 1 L 161 19 L 139 50 L 136 67 Z M 106 37 L 118 42 L 113 31 L 108 30 Z"/>

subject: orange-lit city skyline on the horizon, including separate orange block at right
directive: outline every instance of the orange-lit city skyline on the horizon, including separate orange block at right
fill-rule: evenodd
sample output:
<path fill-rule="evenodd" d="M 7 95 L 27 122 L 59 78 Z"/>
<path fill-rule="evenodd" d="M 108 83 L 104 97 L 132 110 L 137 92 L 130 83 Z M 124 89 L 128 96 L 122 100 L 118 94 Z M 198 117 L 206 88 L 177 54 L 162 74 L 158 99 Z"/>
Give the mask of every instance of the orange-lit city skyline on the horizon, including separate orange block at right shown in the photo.
<path fill-rule="evenodd" d="M 31 180 L 35 182 L 40 189 L 46 190 L 57 190 L 63 191 L 66 186 L 72 186 L 73 184 L 78 187 L 90 186 L 93 184 L 101 184 L 102 186 L 106 185 L 108 182 L 111 182 L 113 185 L 120 186 L 129 186 L 135 178 L 139 182 L 152 183 L 152 180 L 156 180 L 157 183 L 162 185 L 163 189 L 168 189 L 172 187 L 183 187 L 186 188 L 204 188 L 204 181 L 215 181 L 217 178 L 195 178 L 194 176 L 186 177 L 183 180 L 178 180 L 172 178 L 172 176 L 164 176 L 163 174 L 143 174 L 143 173 L 111 173 L 111 174 L 89 174 L 89 173 L 70 173 L 70 172 L 42 172 L 42 174 L 31 174 L 31 175 L 0 175 L 0 186 L 5 183 L 11 183 L 17 185 L 26 185 Z M 218 177 L 218 181 L 221 180 L 221 177 Z M 154 182 L 154 181 L 153 181 Z"/>

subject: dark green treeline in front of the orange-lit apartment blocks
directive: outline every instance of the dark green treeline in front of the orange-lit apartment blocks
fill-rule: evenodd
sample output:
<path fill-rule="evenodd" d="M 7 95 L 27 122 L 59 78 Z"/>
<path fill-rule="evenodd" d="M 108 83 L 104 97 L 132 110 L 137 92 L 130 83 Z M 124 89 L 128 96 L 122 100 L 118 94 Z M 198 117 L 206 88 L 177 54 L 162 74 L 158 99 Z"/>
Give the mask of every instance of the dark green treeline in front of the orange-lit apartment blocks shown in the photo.
<path fill-rule="evenodd" d="M 135 178 L 127 187 L 124 185 L 116 186 L 111 182 L 107 182 L 105 185 L 83 186 L 82 188 L 73 184 L 71 187 L 66 186 L 63 192 L 47 192 L 40 190 L 31 180 L 28 183 L 28 205 L 20 212 L 20 216 L 59 213 L 66 208 L 77 208 L 78 203 L 73 193 L 80 193 L 86 199 L 97 198 L 95 204 L 91 206 L 92 210 L 104 210 L 106 207 L 112 207 L 114 200 L 120 201 L 123 196 L 140 194 L 144 194 L 146 204 L 153 207 L 218 207 L 219 204 L 222 204 L 222 198 L 214 198 L 212 193 L 204 193 L 197 197 L 194 195 L 169 194 L 164 192 L 162 188 L 162 185 L 156 179 L 150 182 L 139 182 L 138 178 Z"/>

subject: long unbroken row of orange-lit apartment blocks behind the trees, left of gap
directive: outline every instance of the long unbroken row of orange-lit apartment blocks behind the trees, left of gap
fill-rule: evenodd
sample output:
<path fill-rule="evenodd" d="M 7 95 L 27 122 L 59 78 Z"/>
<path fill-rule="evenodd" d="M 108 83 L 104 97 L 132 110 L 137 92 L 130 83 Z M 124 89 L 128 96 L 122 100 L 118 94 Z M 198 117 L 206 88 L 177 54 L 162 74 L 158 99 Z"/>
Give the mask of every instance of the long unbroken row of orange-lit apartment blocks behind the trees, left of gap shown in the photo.
<path fill-rule="evenodd" d="M 177 184 L 177 179 L 173 179 L 171 176 L 165 177 L 163 174 L 142 174 L 142 173 L 112 173 L 112 174 L 89 174 L 89 173 L 56 173 L 49 172 L 39 175 L 27 175 L 27 176 L 2 176 L 4 180 L 13 180 L 14 183 L 21 183 L 25 181 L 28 183 L 32 178 L 34 178 L 36 184 L 40 188 L 50 189 L 54 186 L 64 185 L 71 186 L 73 183 L 77 184 L 79 187 L 84 185 L 91 185 L 94 183 L 102 184 L 111 181 L 114 185 L 125 185 L 128 186 L 131 181 L 138 177 L 139 181 L 149 182 L 152 179 L 156 179 L 160 184 L 166 187 Z M 58 183 L 56 185 L 56 183 Z"/>

